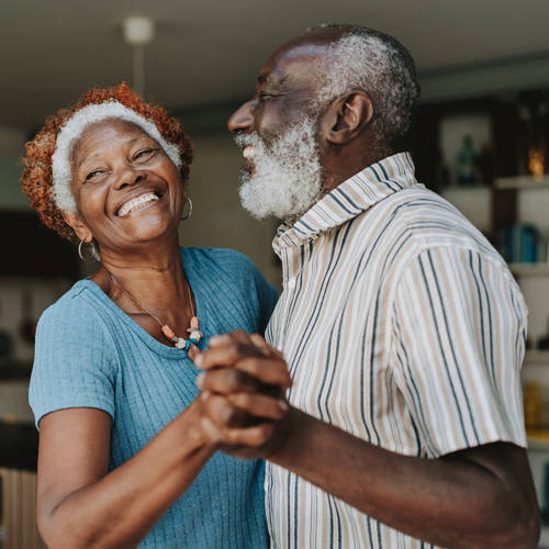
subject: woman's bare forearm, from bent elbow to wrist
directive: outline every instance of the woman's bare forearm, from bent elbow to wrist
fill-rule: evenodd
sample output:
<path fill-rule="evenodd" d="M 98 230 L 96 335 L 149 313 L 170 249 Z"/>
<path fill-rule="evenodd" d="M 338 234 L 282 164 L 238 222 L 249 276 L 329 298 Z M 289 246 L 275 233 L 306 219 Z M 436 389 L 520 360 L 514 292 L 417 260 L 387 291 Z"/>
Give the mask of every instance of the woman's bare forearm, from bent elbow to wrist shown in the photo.
<path fill-rule="evenodd" d="M 101 480 L 75 490 L 47 512 L 38 508 L 48 547 L 137 547 L 215 451 L 200 428 L 200 405 L 193 403 Z M 42 505 L 48 504 L 52 500 L 43 494 Z"/>

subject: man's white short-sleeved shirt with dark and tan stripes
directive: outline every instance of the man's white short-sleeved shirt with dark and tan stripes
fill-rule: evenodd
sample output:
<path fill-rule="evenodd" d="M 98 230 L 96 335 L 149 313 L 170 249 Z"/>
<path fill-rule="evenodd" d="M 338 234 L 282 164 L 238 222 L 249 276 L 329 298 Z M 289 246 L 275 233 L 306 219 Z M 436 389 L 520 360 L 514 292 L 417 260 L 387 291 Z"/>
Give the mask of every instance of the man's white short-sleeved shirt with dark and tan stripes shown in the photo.
<path fill-rule="evenodd" d="M 292 405 L 405 456 L 526 446 L 523 295 L 482 234 L 417 183 L 410 155 L 341 183 L 273 247 L 284 289 L 267 337 Z M 271 463 L 266 504 L 274 549 L 434 547 Z"/>

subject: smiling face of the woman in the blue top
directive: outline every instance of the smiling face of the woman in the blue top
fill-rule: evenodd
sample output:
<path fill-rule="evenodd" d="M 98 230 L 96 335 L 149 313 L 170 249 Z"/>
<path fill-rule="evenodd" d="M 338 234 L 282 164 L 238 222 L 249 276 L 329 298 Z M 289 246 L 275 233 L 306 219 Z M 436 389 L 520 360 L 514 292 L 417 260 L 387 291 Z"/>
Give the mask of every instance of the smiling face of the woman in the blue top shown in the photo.
<path fill-rule="evenodd" d="M 131 253 L 177 233 L 187 198 L 181 175 L 142 128 L 121 120 L 98 123 L 82 134 L 72 163 L 78 216 L 102 253 Z"/>

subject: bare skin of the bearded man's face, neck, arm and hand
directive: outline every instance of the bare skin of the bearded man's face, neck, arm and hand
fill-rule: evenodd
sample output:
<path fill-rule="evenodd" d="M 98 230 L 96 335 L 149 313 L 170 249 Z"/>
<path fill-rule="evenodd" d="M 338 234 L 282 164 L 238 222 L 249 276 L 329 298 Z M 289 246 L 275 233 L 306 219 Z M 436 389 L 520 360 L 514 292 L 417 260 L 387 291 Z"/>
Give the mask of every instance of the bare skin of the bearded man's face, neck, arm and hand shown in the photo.
<path fill-rule="evenodd" d="M 261 69 L 256 96 L 232 116 L 229 130 L 274 139 L 287 120 L 310 108 L 322 82 L 311 59 L 340 33 L 314 31 L 276 49 Z M 328 190 L 383 158 L 371 117 L 370 98 L 360 91 L 338 98 L 320 114 L 317 142 Z M 254 169 L 253 158 L 245 168 Z M 244 425 L 240 413 L 254 416 L 250 404 L 265 393 L 265 384 L 282 379 L 283 357 L 259 336 L 243 333 L 213 338 L 210 347 L 197 362 L 205 370 L 203 399 L 229 400 L 239 411 L 234 419 Z M 526 451 L 509 442 L 427 460 L 390 452 L 290 406 L 265 445 L 225 451 L 266 458 L 377 520 L 439 547 L 537 546 L 539 509 Z"/>

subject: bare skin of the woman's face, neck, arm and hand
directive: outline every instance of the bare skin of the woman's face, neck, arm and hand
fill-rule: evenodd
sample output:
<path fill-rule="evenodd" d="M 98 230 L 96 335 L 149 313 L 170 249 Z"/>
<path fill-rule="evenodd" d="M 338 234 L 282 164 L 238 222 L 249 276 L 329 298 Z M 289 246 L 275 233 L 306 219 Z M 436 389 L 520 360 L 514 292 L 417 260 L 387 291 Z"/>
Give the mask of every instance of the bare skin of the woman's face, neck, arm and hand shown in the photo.
<path fill-rule="evenodd" d="M 187 200 L 179 170 L 154 139 L 120 121 L 91 126 L 75 149 L 74 164 L 79 213 L 65 219 L 80 239 L 99 244 L 102 266 L 91 280 L 150 336 L 171 345 L 107 270 L 177 334 L 187 334 L 193 303 L 177 235 Z M 120 215 L 124 203 L 146 192 L 159 200 Z M 68 408 L 45 415 L 40 422 L 37 522 L 47 546 L 137 547 L 219 448 L 266 444 L 272 421 L 288 410 L 278 395 L 258 395 L 247 405 L 262 417 L 251 427 L 243 413 L 235 422 L 231 399 L 201 395 L 112 472 L 109 414 Z"/>

